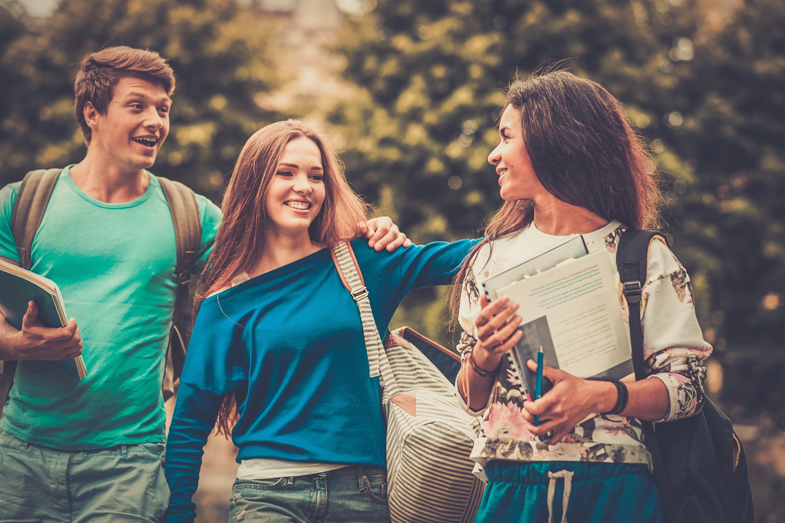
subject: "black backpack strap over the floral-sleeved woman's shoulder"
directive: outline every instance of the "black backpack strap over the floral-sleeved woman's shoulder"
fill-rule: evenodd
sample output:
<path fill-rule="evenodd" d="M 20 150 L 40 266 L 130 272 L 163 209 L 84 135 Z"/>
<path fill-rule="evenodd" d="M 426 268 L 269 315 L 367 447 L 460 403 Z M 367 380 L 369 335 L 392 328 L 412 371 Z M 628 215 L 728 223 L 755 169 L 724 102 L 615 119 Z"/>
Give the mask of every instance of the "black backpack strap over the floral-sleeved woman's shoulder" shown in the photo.
<path fill-rule="evenodd" d="M 639 231 L 627 229 L 619 238 L 616 245 L 616 267 L 619 268 L 619 278 L 624 287 L 624 297 L 627 307 L 630 308 L 630 342 L 632 343 L 633 369 L 635 379 L 644 380 L 644 354 L 643 354 L 643 329 L 641 327 L 641 289 L 646 282 L 648 266 L 648 247 L 659 238 L 668 245 L 666 238 L 656 231 Z M 670 482 L 666 474 L 663 456 L 659 452 L 659 445 L 654 432 L 654 423 L 641 419 L 646 438 L 646 447 L 652 454 L 654 474 L 659 485 L 659 492 L 663 501 L 671 499 Z M 667 515 L 667 512 L 663 512 Z"/>

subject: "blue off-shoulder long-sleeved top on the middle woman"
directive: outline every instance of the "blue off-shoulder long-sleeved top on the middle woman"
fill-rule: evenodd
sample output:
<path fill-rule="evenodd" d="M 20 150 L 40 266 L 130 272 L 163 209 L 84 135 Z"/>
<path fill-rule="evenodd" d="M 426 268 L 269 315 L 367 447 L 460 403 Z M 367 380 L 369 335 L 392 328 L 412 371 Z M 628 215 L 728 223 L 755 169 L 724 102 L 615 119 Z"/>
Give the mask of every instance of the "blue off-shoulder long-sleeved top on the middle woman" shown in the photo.
<path fill-rule="evenodd" d="M 352 242 L 382 335 L 406 292 L 449 283 L 475 244 L 375 252 Z M 194 520 L 203 447 L 232 390 L 247 392 L 232 430 L 238 461 L 385 467 L 379 380 L 369 377 L 360 313 L 329 249 L 203 301 L 166 445 L 168 523 Z"/>

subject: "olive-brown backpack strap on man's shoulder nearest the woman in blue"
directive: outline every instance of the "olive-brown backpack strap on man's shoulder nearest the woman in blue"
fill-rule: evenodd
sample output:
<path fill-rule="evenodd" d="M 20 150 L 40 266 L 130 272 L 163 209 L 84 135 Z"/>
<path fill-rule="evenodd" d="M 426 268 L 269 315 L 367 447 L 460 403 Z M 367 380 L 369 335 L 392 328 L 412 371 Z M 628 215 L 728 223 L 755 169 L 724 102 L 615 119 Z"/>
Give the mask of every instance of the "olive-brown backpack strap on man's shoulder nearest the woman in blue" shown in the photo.
<path fill-rule="evenodd" d="M 174 239 L 177 244 L 177 299 L 174 302 L 172 329 L 166 347 L 166 371 L 163 376 L 162 394 L 166 401 L 174 394 L 174 384 L 180 378 L 188 350 L 192 329 L 192 302 L 189 283 L 191 272 L 202 241 L 202 219 L 194 191 L 180 182 L 158 176 L 169 212 L 172 215 Z"/>

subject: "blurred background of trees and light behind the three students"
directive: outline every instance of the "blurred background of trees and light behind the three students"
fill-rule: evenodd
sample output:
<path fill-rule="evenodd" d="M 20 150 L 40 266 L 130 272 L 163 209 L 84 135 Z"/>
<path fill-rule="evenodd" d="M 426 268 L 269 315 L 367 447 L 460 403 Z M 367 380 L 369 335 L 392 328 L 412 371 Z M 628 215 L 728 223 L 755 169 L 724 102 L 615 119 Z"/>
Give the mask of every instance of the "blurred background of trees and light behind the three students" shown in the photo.
<path fill-rule="evenodd" d="M 558 60 L 600 82 L 657 162 L 757 520 L 785 521 L 783 0 L 0 0 L 0 183 L 79 162 L 73 78 L 105 45 L 177 74 L 155 173 L 220 204 L 251 133 L 309 118 L 415 242 L 475 237 L 501 205 L 486 156 L 507 82 Z M 454 343 L 446 294 L 412 292 L 392 326 Z M 234 449 L 207 451 L 199 521 L 225 521 Z"/>

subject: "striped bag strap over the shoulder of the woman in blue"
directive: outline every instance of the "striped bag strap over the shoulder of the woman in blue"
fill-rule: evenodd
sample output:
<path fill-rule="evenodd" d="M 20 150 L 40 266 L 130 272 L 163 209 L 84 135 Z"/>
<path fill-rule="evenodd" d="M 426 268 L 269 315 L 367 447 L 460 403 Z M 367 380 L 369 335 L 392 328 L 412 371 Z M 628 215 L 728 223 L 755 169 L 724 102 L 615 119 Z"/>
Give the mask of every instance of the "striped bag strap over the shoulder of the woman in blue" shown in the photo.
<path fill-rule="evenodd" d="M 331 254 L 341 281 L 346 289 L 349 289 L 349 293 L 357 303 L 357 308 L 360 309 L 365 350 L 368 353 L 368 368 L 371 371 L 371 378 L 374 378 L 379 376 L 379 351 L 385 349 L 376 328 L 374 311 L 371 309 L 371 300 L 368 300 L 368 289 L 365 288 L 363 273 L 360 272 L 360 265 L 357 263 L 352 245 L 349 245 L 349 242 L 338 243 L 333 247 Z"/>

